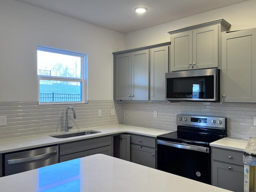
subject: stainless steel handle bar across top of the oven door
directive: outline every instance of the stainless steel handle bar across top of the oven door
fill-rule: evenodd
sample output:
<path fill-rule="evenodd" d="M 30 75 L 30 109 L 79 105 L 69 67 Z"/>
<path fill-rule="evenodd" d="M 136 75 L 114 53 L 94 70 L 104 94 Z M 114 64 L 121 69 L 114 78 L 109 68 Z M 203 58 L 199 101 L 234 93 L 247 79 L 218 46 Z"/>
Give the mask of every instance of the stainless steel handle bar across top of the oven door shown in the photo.
<path fill-rule="evenodd" d="M 157 144 L 166 145 L 166 146 L 175 147 L 175 148 L 199 151 L 199 152 L 204 152 L 204 153 L 209 153 L 209 151 L 210 151 L 209 148 L 207 148 L 207 147 L 195 146 L 195 145 L 184 145 L 184 144 L 180 144 L 180 143 L 176 143 L 176 142 L 166 142 L 166 141 L 162 141 L 162 140 L 157 140 Z"/>

